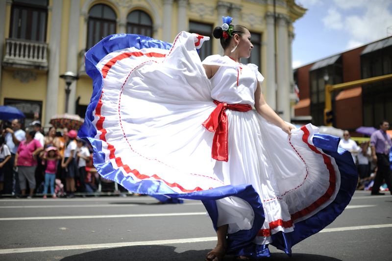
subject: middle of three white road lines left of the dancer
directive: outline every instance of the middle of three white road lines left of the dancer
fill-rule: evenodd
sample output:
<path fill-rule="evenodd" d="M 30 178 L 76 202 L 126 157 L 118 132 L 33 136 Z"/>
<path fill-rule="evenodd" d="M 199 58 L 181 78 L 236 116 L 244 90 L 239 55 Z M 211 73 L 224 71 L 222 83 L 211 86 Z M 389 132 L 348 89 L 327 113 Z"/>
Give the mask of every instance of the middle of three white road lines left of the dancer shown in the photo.
<path fill-rule="evenodd" d="M 178 216 L 205 215 L 206 212 L 164 213 L 164 214 L 129 214 L 129 215 L 72 215 L 72 216 L 33 216 L 33 217 L 2 217 L 0 221 L 10 220 L 48 220 L 48 219 L 80 219 L 80 218 L 118 218 L 118 217 L 149 217 L 149 216 Z"/>

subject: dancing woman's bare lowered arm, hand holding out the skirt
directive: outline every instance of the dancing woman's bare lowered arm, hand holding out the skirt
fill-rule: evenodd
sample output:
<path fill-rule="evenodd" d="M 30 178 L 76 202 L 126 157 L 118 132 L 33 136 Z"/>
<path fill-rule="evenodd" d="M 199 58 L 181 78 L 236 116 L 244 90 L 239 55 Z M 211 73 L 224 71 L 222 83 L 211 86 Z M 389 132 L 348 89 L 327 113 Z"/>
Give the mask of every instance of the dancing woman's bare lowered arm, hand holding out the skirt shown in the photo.
<path fill-rule="evenodd" d="M 287 124 L 267 104 L 263 94 L 261 93 L 261 87 L 259 81 L 257 81 L 257 89 L 256 92 L 254 93 L 254 100 L 255 100 L 254 107 L 256 108 L 256 111 L 265 119 L 270 121 L 272 124 L 275 124 L 276 126 L 280 127 L 284 132 L 289 134 L 289 137 L 291 137 L 291 130 L 294 129 L 294 127 Z"/>

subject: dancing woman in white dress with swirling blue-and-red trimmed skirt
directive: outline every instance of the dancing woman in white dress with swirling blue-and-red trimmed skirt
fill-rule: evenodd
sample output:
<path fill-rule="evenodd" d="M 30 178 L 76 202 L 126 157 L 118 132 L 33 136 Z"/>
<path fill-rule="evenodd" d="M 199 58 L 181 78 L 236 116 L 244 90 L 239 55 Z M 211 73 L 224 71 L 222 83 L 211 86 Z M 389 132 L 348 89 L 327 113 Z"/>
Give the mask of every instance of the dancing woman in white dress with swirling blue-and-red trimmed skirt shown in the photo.
<path fill-rule="evenodd" d="M 94 93 L 79 137 L 104 178 L 201 200 L 218 235 L 207 261 L 269 257 L 269 244 L 291 255 L 342 213 L 355 165 L 339 138 L 294 129 L 267 105 L 257 66 L 240 63 L 253 47 L 244 26 L 225 17 L 214 36 L 224 56 L 203 62 L 196 50 L 208 38 L 196 34 L 103 39 L 86 54 Z"/>

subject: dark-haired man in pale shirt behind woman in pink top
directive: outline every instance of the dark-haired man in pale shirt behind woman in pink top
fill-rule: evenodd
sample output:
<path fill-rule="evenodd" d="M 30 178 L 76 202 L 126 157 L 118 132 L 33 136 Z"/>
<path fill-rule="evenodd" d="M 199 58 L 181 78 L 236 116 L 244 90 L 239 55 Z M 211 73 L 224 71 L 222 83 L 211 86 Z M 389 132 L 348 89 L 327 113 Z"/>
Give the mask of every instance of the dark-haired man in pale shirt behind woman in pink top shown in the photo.
<path fill-rule="evenodd" d="M 14 119 L 11 122 L 11 128 L 6 128 L 3 132 L 6 134 L 5 136 L 5 144 L 9 147 L 11 151 L 11 163 L 15 161 L 15 154 L 18 150 L 19 144 L 26 139 L 25 131 L 21 130 L 21 120 Z M 4 135 L 3 134 L 3 135 Z M 12 173 L 12 193 L 13 194 L 20 194 L 21 189 L 19 187 L 19 176 L 17 173 L 13 171 Z"/>

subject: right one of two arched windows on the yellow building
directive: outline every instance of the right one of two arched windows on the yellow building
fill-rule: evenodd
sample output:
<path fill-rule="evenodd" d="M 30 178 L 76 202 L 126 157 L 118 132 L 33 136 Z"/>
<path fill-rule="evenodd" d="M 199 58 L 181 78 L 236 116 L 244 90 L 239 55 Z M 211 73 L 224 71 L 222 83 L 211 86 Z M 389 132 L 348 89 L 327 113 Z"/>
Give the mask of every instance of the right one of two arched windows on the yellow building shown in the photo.
<path fill-rule="evenodd" d="M 146 12 L 135 10 L 126 18 L 126 33 L 152 37 L 152 20 Z"/>

